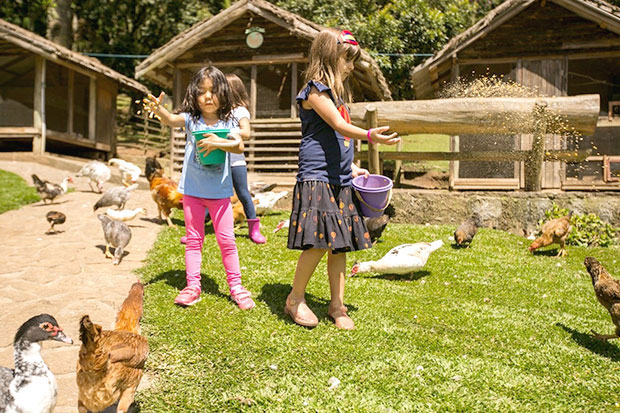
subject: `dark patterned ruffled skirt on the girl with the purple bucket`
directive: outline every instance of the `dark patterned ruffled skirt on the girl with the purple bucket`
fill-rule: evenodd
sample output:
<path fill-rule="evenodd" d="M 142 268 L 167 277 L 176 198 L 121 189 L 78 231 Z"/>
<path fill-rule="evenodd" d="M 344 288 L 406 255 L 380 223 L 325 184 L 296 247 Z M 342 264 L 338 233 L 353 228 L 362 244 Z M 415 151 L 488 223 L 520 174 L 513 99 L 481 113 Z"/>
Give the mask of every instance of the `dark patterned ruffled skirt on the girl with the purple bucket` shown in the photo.
<path fill-rule="evenodd" d="M 322 181 L 295 184 L 288 248 L 349 252 L 371 248 L 353 188 Z"/>

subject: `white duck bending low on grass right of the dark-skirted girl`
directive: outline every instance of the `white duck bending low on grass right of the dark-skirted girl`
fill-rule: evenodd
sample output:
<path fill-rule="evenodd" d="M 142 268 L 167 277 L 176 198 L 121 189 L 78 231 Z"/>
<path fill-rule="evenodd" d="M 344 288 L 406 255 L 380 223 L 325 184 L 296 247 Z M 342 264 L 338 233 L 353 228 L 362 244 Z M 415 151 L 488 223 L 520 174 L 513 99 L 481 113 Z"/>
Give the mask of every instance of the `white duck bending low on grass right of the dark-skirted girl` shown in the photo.
<path fill-rule="evenodd" d="M 351 274 L 378 272 L 381 274 L 408 274 L 422 269 L 431 252 L 441 248 L 442 240 L 402 244 L 392 248 L 377 261 L 358 262 L 351 268 Z"/>

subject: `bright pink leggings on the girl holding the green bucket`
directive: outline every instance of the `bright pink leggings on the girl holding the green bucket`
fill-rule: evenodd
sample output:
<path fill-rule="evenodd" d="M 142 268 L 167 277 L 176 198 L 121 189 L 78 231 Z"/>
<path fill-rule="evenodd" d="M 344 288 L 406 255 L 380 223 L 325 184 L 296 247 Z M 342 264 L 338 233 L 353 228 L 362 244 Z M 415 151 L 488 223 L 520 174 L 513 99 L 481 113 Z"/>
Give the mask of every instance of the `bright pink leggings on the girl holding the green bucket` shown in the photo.
<path fill-rule="evenodd" d="M 205 199 L 183 195 L 185 213 L 185 274 L 188 287 L 200 288 L 200 267 L 202 266 L 202 244 L 205 238 L 205 209 L 213 222 L 215 238 L 222 252 L 222 263 L 226 270 L 226 281 L 230 289 L 241 285 L 239 254 L 235 244 L 232 207 L 229 198 Z"/>

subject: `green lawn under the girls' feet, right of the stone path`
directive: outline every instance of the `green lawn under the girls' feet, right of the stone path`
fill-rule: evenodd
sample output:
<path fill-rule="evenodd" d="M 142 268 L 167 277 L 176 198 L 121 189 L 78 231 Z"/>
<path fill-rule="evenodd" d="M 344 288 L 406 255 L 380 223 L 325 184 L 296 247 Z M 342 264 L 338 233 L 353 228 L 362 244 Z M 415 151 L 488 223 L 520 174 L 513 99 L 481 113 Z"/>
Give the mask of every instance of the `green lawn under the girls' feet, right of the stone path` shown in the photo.
<path fill-rule="evenodd" d="M 525 238 L 482 229 L 471 248 L 454 249 L 452 226 L 393 224 L 385 242 L 348 255 L 377 259 L 407 242 L 442 239 L 412 276 L 347 280 L 346 304 L 357 325 L 339 331 L 327 319 L 329 286 L 322 261 L 310 280 L 315 329 L 283 313 L 298 251 L 288 214 L 263 218 L 268 243 L 237 231 L 245 285 L 255 309 L 228 297 L 213 233 L 205 241 L 202 301 L 173 305 L 185 285 L 182 227 L 166 228 L 139 271 L 147 283 L 143 333 L 152 386 L 137 395 L 144 412 L 601 412 L 620 406 L 619 343 L 597 302 L 584 257 L 620 278 L 620 248 L 555 247 L 536 255 Z M 180 214 L 177 213 L 177 222 Z M 211 229 L 211 227 L 208 227 Z M 212 230 L 211 230 L 212 231 Z M 330 389 L 335 377 L 340 385 Z"/>

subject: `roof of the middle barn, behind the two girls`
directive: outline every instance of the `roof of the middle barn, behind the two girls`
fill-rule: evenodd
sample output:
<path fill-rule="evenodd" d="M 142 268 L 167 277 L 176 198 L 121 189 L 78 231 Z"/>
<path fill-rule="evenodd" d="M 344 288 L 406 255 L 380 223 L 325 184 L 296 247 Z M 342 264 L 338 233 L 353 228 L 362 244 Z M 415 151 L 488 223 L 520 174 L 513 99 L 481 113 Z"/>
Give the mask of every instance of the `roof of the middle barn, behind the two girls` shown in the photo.
<path fill-rule="evenodd" d="M 198 43 L 203 42 L 211 35 L 229 25 L 232 21 L 250 13 L 260 16 L 288 30 L 291 36 L 312 42 L 316 35 L 324 29 L 323 26 L 306 20 L 301 16 L 283 10 L 264 0 L 239 0 L 221 13 L 205 19 L 189 29 L 179 33 L 168 43 L 153 51 L 153 53 L 136 67 L 135 77 L 147 78 L 164 87 L 172 87 L 172 73 L 165 70 L 166 66 L 182 54 L 186 53 Z M 356 63 L 354 76 L 360 81 L 363 88 L 368 89 L 368 95 L 376 100 L 391 100 L 392 95 L 381 69 L 377 62 L 362 49 L 362 56 Z"/>

